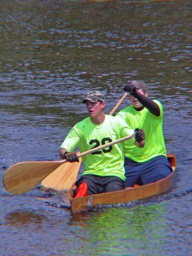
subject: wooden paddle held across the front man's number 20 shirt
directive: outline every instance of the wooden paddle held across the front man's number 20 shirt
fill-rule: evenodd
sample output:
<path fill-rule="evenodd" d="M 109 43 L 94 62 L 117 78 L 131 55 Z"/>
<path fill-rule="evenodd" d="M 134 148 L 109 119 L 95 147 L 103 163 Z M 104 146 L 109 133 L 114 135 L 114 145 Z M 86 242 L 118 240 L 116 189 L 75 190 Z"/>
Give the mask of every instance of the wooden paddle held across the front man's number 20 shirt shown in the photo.
<path fill-rule="evenodd" d="M 126 136 L 116 141 L 112 141 L 108 144 L 102 145 L 97 148 L 92 148 L 86 152 L 83 152 L 78 157 L 92 154 L 97 150 L 110 147 L 116 143 L 120 143 L 125 140 L 129 140 L 135 137 L 136 132 L 131 136 Z M 33 162 L 22 162 L 13 164 L 3 175 L 3 185 L 6 191 L 11 194 L 22 194 L 35 188 L 47 175 L 56 170 L 61 164 L 67 163 L 67 160 L 61 161 L 33 161 Z"/>

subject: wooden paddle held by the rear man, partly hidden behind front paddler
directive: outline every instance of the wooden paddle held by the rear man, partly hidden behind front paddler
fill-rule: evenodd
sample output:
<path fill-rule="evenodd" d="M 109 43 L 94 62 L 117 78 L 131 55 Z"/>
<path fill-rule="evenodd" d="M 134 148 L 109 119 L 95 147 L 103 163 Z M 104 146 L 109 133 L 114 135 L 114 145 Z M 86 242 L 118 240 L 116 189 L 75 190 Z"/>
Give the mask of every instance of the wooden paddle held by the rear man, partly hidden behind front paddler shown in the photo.
<path fill-rule="evenodd" d="M 127 92 L 121 97 L 121 99 L 117 102 L 115 107 L 111 110 L 109 115 L 113 115 L 116 109 L 122 104 L 125 97 L 127 96 Z M 72 184 L 77 179 L 77 175 L 79 173 L 79 168 L 81 166 L 81 159 L 78 162 L 74 163 L 65 163 L 56 168 L 54 172 L 49 174 L 44 180 L 42 180 L 42 187 L 51 188 L 56 191 L 68 190 L 72 187 Z"/>

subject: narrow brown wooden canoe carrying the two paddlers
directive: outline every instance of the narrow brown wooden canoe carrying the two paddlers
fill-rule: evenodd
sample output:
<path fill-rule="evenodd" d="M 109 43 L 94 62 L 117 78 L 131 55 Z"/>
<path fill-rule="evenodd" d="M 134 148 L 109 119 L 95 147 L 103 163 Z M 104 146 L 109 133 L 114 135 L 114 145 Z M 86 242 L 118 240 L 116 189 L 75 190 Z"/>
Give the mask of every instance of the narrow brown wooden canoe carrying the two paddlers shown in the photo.
<path fill-rule="evenodd" d="M 133 200 L 141 200 L 150 196 L 165 193 L 172 186 L 172 179 L 177 164 L 175 154 L 168 154 L 168 161 L 172 166 L 172 173 L 164 179 L 158 180 L 143 186 L 135 186 L 134 188 L 126 188 L 124 190 L 113 191 L 109 193 L 100 193 L 80 198 L 72 198 L 69 191 L 68 197 L 72 213 L 88 211 L 97 208 L 100 205 L 127 203 Z"/>

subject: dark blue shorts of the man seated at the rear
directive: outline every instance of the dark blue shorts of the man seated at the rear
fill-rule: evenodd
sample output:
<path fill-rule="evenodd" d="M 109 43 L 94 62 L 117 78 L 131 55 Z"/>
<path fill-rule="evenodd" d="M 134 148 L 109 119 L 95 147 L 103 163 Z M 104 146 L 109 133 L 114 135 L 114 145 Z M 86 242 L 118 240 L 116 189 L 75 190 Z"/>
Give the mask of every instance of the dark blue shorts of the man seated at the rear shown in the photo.
<path fill-rule="evenodd" d="M 138 163 L 125 157 L 125 187 L 134 184 L 145 185 L 163 179 L 172 172 L 165 156 L 154 157 L 147 162 Z"/>

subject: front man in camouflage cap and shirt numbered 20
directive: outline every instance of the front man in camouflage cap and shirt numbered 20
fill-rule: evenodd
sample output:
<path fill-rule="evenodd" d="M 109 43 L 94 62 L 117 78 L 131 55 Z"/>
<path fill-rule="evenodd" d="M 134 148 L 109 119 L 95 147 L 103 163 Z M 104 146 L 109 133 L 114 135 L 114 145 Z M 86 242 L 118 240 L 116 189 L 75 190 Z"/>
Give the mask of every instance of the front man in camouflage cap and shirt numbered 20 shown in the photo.
<path fill-rule="evenodd" d="M 111 141 L 131 135 L 130 129 L 124 120 L 104 114 L 106 102 L 104 95 L 98 91 L 88 92 L 83 99 L 89 117 L 77 123 L 68 133 L 60 147 L 60 157 L 69 162 L 79 161 L 73 152 L 76 147 L 80 152 L 91 150 Z M 145 145 L 145 134 L 139 129 L 136 138 L 129 140 L 137 147 Z M 84 172 L 76 182 L 76 197 L 96 193 L 111 192 L 124 189 L 125 170 L 122 143 L 103 148 L 82 157 Z"/>

